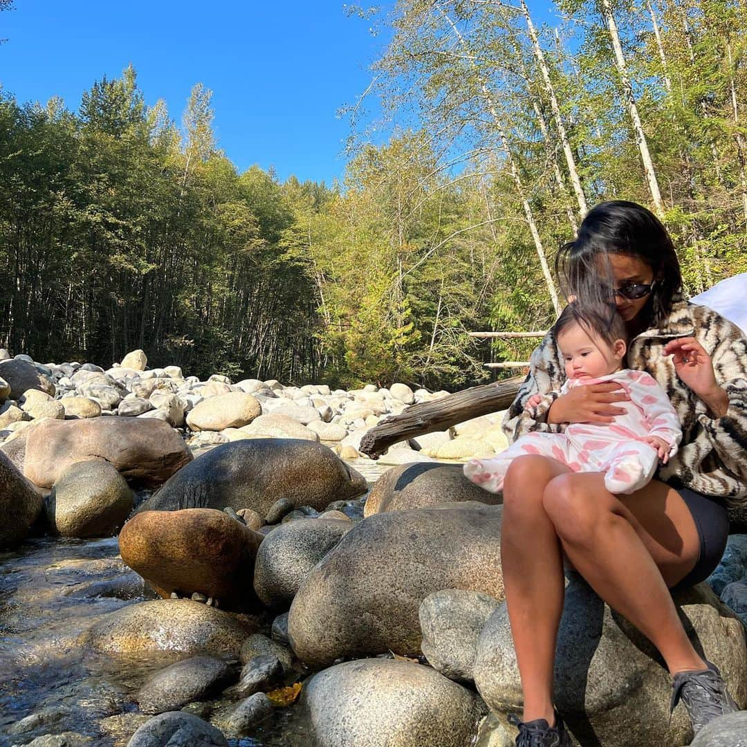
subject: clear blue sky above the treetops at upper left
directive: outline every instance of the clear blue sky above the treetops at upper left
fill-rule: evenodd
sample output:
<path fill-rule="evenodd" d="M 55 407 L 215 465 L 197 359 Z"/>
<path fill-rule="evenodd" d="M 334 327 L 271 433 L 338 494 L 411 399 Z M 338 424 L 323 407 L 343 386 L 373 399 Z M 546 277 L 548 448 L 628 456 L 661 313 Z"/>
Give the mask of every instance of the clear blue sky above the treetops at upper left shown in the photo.
<path fill-rule="evenodd" d="M 219 146 L 239 170 L 331 182 L 349 134 L 338 108 L 365 90 L 382 46 L 341 0 L 16 0 L 0 13 L 0 84 L 19 102 L 62 96 L 128 63 L 150 105 L 181 124 L 193 84 L 213 91 Z"/>

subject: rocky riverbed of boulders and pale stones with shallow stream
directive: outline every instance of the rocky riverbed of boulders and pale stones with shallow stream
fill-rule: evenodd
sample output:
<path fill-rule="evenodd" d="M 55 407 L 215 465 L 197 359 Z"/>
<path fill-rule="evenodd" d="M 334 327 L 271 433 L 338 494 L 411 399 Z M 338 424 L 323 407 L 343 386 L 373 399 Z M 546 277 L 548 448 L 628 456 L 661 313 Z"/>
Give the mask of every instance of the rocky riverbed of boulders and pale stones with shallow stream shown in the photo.
<path fill-rule="evenodd" d="M 500 414 L 371 462 L 363 433 L 447 393 L 146 363 L 0 351 L 0 747 L 512 744 L 500 496 L 459 463 L 505 445 Z M 734 520 L 675 601 L 745 707 Z M 578 743 L 689 744 L 657 653 L 574 574 L 558 649 Z M 734 747 L 745 716 L 692 744 Z"/>

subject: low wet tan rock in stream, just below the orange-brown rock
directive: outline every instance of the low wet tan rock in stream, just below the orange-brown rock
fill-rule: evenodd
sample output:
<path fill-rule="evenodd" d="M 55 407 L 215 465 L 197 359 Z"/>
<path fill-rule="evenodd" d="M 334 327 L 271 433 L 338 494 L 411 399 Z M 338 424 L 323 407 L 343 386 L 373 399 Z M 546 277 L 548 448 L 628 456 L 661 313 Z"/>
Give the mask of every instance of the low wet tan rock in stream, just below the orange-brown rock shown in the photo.
<path fill-rule="evenodd" d="M 173 651 L 238 659 L 255 624 L 190 599 L 157 599 L 129 604 L 99 620 L 83 642 L 106 654 Z"/>

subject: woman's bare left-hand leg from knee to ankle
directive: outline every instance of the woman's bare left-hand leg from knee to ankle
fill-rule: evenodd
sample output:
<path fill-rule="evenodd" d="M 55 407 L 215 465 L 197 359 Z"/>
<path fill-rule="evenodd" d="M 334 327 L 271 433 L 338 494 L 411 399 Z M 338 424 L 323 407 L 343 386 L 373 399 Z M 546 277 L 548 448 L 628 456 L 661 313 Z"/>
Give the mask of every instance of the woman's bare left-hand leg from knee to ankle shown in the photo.
<path fill-rule="evenodd" d="M 562 613 L 562 552 L 545 512 L 545 488 L 570 470 L 545 456 L 518 456 L 503 483 L 500 559 L 524 691 L 524 721 L 554 722 L 555 644 Z"/>

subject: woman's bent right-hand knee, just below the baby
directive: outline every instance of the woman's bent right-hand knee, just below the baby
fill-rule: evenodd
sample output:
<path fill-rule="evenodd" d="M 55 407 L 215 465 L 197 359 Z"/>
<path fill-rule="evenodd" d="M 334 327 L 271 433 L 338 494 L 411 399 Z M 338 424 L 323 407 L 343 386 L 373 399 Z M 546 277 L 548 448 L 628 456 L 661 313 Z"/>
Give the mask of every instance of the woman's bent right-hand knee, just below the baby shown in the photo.
<path fill-rule="evenodd" d="M 568 542 L 583 542 L 592 536 L 612 508 L 608 494 L 600 494 L 573 473 L 559 475 L 548 483 L 542 506 L 558 536 Z"/>

